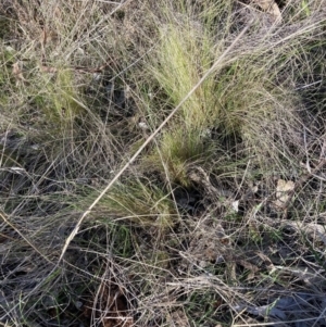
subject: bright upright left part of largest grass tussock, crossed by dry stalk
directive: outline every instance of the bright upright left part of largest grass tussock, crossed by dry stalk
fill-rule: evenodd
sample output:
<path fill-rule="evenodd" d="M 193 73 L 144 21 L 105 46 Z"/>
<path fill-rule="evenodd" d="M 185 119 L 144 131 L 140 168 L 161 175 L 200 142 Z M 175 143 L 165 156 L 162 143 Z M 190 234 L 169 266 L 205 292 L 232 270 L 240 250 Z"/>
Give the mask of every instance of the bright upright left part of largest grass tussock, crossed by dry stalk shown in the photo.
<path fill-rule="evenodd" d="M 160 34 L 155 56 L 150 59 L 148 67 L 160 91 L 152 99 L 154 104 L 149 104 L 149 116 L 161 114 L 155 110 L 156 103 L 164 103 L 165 108 L 176 106 L 210 67 L 216 54 L 209 30 L 185 12 L 178 23 L 173 16 L 167 16 L 167 23 L 160 26 Z M 209 77 L 190 96 L 175 122 L 163 133 L 159 148 L 146 160 L 147 165 L 161 166 L 158 169 L 163 175 L 167 174 L 172 181 L 183 186 L 191 184 L 187 178 L 187 166 L 206 161 L 213 149 L 205 134 L 216 124 L 220 112 L 214 85 L 214 78 Z M 164 165 L 167 172 L 164 172 Z"/>

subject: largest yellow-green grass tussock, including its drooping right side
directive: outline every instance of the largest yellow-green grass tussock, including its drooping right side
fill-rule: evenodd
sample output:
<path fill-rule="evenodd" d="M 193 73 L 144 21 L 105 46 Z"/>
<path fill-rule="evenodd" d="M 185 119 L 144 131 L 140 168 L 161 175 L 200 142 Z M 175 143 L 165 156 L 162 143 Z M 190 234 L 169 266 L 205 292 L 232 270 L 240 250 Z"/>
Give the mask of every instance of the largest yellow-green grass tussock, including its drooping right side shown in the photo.
<path fill-rule="evenodd" d="M 158 103 L 164 108 L 176 106 L 225 49 L 224 40 L 215 37 L 208 26 L 206 22 L 211 22 L 208 14 L 203 20 L 190 10 L 180 14 L 177 22 L 174 20 L 173 15 L 168 16 L 168 23 L 160 26 L 161 39 L 154 59 L 150 59 L 149 72 L 158 91 L 153 104 L 147 104 L 149 116 L 160 114 L 155 110 Z M 221 34 L 228 34 L 228 28 L 231 26 L 226 24 Z M 283 50 L 288 51 L 286 49 Z M 271 165 L 273 158 L 275 166 L 285 169 L 292 159 L 288 153 L 277 153 L 269 140 L 280 137 L 275 136 L 279 124 L 284 125 L 283 137 L 288 133 L 292 138 L 300 128 L 300 120 L 293 116 L 298 99 L 275 79 L 276 63 L 279 72 L 284 68 L 283 50 L 268 53 L 263 40 L 251 50 L 236 49 L 221 63 L 215 75 L 209 76 L 183 104 L 149 156 L 150 164 L 158 167 L 156 162 L 162 161 L 168 166 L 168 173 L 164 164 L 158 168 L 163 176 L 167 174 L 173 181 L 189 186 L 186 167 L 199 164 L 199 156 L 201 162 L 209 162 L 212 149 L 221 150 L 216 139 L 228 139 L 231 144 L 242 142 L 250 149 L 248 154 L 254 155 L 262 168 Z M 210 135 L 215 135 L 215 139 L 208 137 Z M 266 136 L 264 142 L 262 135 Z M 284 144 L 281 147 L 281 151 L 287 152 Z M 280 156 L 286 156 L 288 163 Z"/>

